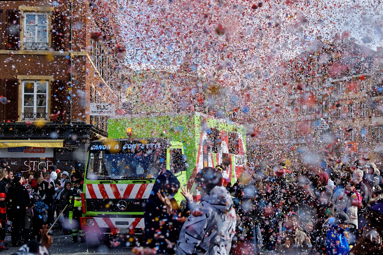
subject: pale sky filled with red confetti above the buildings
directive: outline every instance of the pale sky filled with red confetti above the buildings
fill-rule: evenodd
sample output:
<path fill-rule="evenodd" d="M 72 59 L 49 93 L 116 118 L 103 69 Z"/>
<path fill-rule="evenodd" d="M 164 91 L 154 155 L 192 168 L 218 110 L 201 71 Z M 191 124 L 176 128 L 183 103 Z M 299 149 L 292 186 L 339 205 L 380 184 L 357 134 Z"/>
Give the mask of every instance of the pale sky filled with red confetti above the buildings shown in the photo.
<path fill-rule="evenodd" d="M 190 59 L 231 74 L 273 69 L 313 47 L 317 36 L 331 40 L 336 33 L 370 49 L 383 46 L 380 1 L 137 0 L 121 6 L 121 37 L 133 69 Z"/>

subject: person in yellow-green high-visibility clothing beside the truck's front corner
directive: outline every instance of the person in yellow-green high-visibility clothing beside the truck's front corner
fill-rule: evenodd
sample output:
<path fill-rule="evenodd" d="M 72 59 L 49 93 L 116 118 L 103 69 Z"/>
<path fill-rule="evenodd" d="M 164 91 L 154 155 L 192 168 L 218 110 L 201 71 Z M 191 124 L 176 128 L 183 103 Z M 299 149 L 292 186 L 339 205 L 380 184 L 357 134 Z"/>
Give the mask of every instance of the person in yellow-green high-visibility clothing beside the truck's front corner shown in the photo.
<path fill-rule="evenodd" d="M 84 181 L 80 172 L 75 172 L 73 177 L 73 188 L 70 190 L 69 198 L 69 223 L 72 226 L 72 243 L 78 242 L 77 235 L 80 235 L 82 243 L 85 243 L 85 232 L 81 229 L 80 217 L 83 217 L 81 193 Z"/>

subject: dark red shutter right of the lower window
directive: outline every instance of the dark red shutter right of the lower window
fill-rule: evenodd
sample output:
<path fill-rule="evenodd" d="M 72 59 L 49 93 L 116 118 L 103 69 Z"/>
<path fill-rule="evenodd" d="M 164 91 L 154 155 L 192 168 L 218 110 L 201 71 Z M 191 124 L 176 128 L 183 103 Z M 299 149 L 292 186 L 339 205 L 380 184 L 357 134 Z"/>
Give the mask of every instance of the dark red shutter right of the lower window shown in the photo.
<path fill-rule="evenodd" d="M 64 80 L 55 80 L 51 84 L 51 121 L 67 120 L 67 88 Z M 56 116 L 60 111 L 60 114 Z M 63 115 L 64 111 L 66 114 Z"/>

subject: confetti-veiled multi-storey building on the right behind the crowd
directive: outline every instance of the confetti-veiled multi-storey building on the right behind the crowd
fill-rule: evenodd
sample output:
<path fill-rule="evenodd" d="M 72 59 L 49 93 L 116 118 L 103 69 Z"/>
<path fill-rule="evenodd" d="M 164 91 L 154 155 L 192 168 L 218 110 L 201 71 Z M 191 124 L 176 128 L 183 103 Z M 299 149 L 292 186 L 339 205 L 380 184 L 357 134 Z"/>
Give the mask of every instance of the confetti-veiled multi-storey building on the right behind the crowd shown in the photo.
<path fill-rule="evenodd" d="M 383 99 L 376 89 L 382 86 L 381 49 L 375 52 L 337 37 L 313 44 L 318 47 L 286 65 L 292 74 L 287 95 L 291 145 L 296 151 L 306 145 L 316 152 L 327 149 L 334 158 L 348 154 L 351 160 L 381 161 L 376 139 L 383 122 L 375 121 L 381 119 L 375 116 Z"/>

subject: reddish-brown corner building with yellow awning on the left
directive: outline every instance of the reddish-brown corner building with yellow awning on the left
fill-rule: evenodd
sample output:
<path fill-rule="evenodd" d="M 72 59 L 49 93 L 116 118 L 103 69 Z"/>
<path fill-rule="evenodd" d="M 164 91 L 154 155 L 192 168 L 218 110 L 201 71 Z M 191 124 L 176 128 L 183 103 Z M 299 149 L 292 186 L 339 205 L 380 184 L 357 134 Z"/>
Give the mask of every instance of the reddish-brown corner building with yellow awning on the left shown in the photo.
<path fill-rule="evenodd" d="M 93 8 L 85 0 L 0 2 L 0 158 L 14 170 L 84 169 L 90 141 L 107 136 L 107 118 L 90 116 L 89 104 L 121 99 L 122 58 Z"/>

